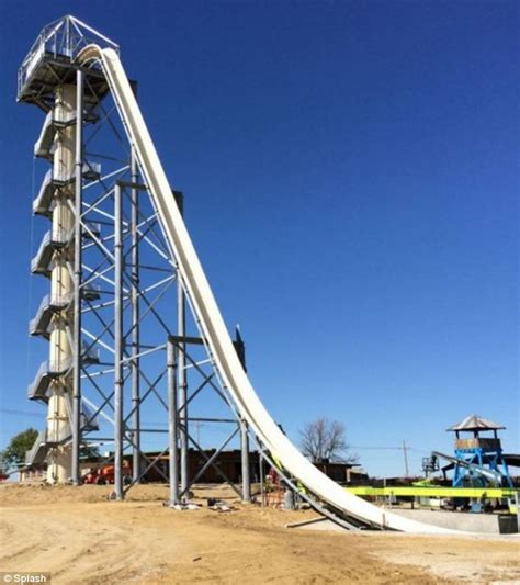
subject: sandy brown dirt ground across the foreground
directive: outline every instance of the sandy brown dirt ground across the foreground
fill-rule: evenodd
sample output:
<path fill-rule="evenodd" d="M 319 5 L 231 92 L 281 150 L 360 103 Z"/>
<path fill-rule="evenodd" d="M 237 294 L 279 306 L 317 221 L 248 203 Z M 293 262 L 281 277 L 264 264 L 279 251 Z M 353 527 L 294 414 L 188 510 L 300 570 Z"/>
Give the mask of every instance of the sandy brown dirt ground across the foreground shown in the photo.
<path fill-rule="evenodd" d="M 315 517 L 195 495 L 233 510 L 165 508 L 163 485 L 0 486 L 0 571 L 49 572 L 54 584 L 520 583 L 519 541 L 286 528 Z"/>

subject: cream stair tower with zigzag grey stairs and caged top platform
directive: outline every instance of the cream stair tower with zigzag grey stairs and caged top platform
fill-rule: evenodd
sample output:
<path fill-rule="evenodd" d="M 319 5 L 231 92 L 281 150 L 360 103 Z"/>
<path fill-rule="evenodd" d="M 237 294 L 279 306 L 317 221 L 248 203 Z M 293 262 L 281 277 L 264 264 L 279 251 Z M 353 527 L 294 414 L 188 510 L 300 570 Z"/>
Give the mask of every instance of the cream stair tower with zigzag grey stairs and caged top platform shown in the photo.
<path fill-rule="evenodd" d="M 37 105 L 46 113 L 34 156 L 47 160 L 50 168 L 33 212 L 47 218 L 49 225 L 31 270 L 48 279 L 49 292 L 30 323 L 30 334 L 48 341 L 48 359 L 30 385 L 29 397 L 47 405 L 47 425 L 27 453 L 27 462 L 45 460 L 47 481 L 52 483 L 78 474 L 72 450 L 79 450 L 79 431 L 95 426 L 95 417 L 88 421 L 88 407 L 78 400 L 80 368 L 88 361 L 81 356 L 80 317 L 89 289 L 80 291 L 80 283 L 75 284 L 81 272 L 83 244 L 80 222 L 76 222 L 77 204 L 81 210 L 83 182 L 98 179 L 100 169 L 83 158 L 83 125 L 97 120 L 94 112 L 108 92 L 100 71 L 82 71 L 75 65 L 77 54 L 89 42 L 117 48 L 74 16 L 50 23 L 31 47 L 18 79 L 18 101 Z M 83 80 L 90 88 L 87 99 Z"/>

